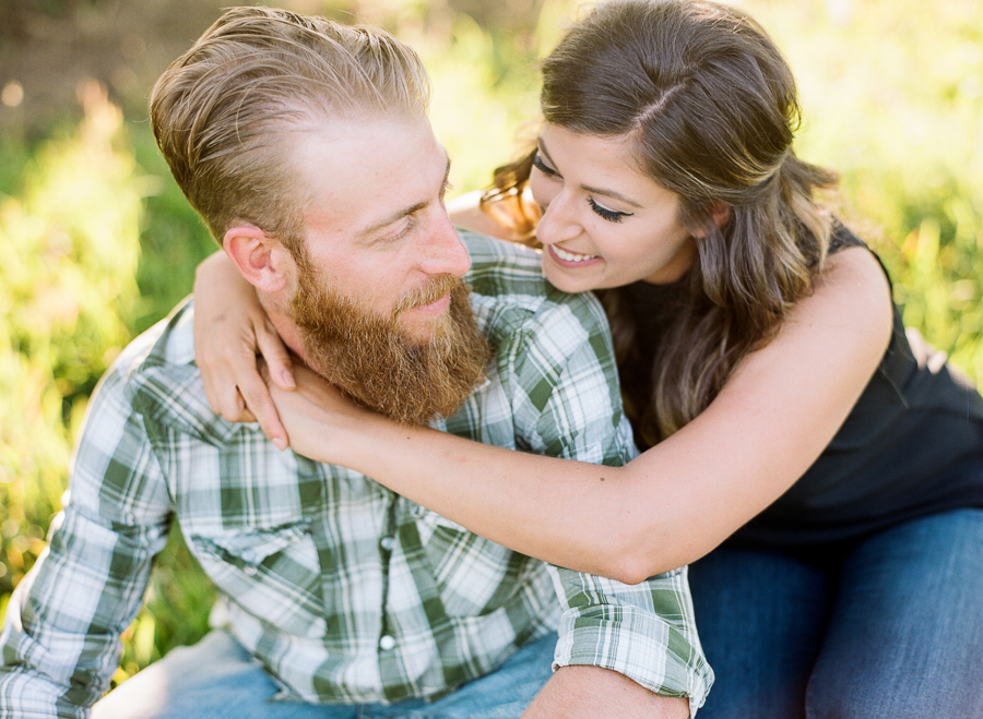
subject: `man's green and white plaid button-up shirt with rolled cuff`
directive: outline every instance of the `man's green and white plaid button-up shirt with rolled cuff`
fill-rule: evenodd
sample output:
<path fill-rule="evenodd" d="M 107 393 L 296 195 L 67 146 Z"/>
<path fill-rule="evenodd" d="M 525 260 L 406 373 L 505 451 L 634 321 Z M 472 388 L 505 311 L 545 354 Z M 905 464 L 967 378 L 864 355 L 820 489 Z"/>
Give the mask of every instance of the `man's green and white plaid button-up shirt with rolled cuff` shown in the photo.
<path fill-rule="evenodd" d="M 465 241 L 496 355 L 441 428 L 596 464 L 629 459 L 596 301 L 548 286 L 531 251 Z M 638 586 L 557 570 L 364 475 L 276 451 L 256 426 L 210 409 L 191 319 L 188 303 L 133 341 L 90 405 L 71 499 L 10 602 L 0 717 L 79 717 L 99 698 L 175 517 L 230 630 L 283 697 L 439 696 L 558 628 L 556 666 L 613 669 L 702 704 L 712 673 L 685 570 Z"/>

